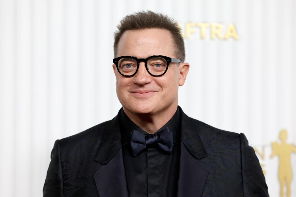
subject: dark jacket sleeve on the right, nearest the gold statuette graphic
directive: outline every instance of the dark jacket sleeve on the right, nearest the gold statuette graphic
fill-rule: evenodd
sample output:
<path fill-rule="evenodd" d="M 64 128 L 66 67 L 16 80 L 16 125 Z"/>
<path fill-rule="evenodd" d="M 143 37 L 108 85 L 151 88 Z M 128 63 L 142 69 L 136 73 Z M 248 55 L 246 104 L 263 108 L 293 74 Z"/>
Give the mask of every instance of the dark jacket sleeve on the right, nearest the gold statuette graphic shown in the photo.
<path fill-rule="evenodd" d="M 241 133 L 241 171 L 245 197 L 268 197 L 268 187 L 259 160 L 246 136 Z"/>

